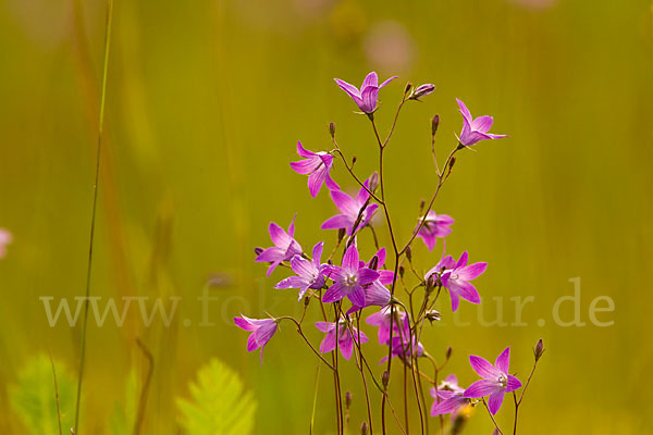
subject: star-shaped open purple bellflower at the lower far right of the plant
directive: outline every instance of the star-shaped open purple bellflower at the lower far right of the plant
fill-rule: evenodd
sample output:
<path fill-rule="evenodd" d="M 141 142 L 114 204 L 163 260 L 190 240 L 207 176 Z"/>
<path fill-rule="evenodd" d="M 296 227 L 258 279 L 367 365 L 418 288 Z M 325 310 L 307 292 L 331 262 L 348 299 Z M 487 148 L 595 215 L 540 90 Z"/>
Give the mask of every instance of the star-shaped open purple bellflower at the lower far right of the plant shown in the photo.
<path fill-rule="evenodd" d="M 463 394 L 463 397 L 478 399 L 490 395 L 488 399 L 488 409 L 492 414 L 501 408 L 506 393 L 510 393 L 521 387 L 521 382 L 508 374 L 510 366 L 510 348 L 507 347 L 498 357 L 494 365 L 481 357 L 470 356 L 469 363 L 471 368 L 483 380 L 477 381 L 469 386 Z"/>

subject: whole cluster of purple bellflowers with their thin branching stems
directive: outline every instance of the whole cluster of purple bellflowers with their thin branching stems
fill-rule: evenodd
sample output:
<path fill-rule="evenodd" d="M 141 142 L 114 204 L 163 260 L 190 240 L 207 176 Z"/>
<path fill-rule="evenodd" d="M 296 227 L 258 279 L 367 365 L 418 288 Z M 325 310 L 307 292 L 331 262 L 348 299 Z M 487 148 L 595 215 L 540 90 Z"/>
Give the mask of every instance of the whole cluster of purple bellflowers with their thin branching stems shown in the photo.
<path fill-rule="evenodd" d="M 457 141 L 442 169 L 438 164 L 434 148 L 432 149 L 438 174 L 436 189 L 428 207 L 426 201 L 422 202 L 411 236 L 406 244 L 401 245 L 397 241 L 397 234 L 392 227 L 382 175 L 383 152 L 394 132 L 394 125 L 387 137 L 382 140 L 373 116 L 379 107 L 379 91 L 394 78 L 396 77 L 391 77 L 379 85 L 378 76 L 372 72 L 367 75 L 360 89 L 344 80 L 335 79 L 336 84 L 347 92 L 371 122 L 380 152 L 378 172 L 367 178 L 359 177 L 355 173 L 355 160 L 349 163 L 345 158 L 335 139 L 333 124 L 330 127 L 333 145 L 330 150 L 312 151 L 306 149 L 300 142 L 297 144 L 297 154 L 301 160 L 292 162 L 291 167 L 296 173 L 308 176 L 308 191 L 311 197 L 316 198 L 325 185 L 335 209 L 338 210 L 337 214 L 326 219 L 321 225 L 321 229 L 337 229 L 335 245 L 328 251 L 331 253 L 324 258 L 326 241 L 322 237 L 310 252 L 306 252 L 299 241 L 295 239 L 295 219 L 287 231 L 276 223 L 271 223 L 269 233 L 273 246 L 256 249 L 256 261 L 268 264 L 268 276 L 271 276 L 279 266 L 287 268 L 292 272 L 289 276 L 279 281 L 274 288 L 297 290 L 298 300 L 304 304 L 301 318 L 298 320 L 292 316 L 249 319 L 242 315 L 234 319 L 237 326 L 251 333 L 247 341 L 247 350 L 252 351 L 260 348 L 261 363 L 262 349 L 276 333 L 279 323 L 284 320 L 294 323 L 297 332 L 313 353 L 336 373 L 334 387 L 337 397 L 337 433 L 344 432 L 342 402 L 338 402 L 342 400 L 340 398 L 340 376 L 337 376 L 338 355 L 342 355 L 345 360 L 350 360 L 353 356 L 356 356 L 356 365 L 364 377 L 366 389 L 368 384 L 365 382 L 365 372 L 377 377 L 365 358 L 365 347 L 362 346 L 369 341 L 360 327 L 361 316 L 366 311 L 371 311 L 371 313 L 365 314 L 365 323 L 377 328 L 379 345 L 387 350 L 386 357 L 380 362 L 380 364 L 386 364 L 386 369 L 381 375 L 382 387 L 374 381 L 377 386 L 383 390 L 383 401 L 390 400 L 387 384 L 392 360 L 395 358 L 406 370 L 412 372 L 420 415 L 422 414 L 421 407 L 426 406 L 423 396 L 417 394 L 418 390 L 421 390 L 422 382 L 428 382 L 432 386 L 430 391 L 434 402 L 430 414 L 451 413 L 452 421 L 464 407 L 480 402 L 485 403 L 488 411 L 493 415 L 501 408 L 504 395 L 521 387 L 521 383 L 509 374 L 509 348 L 498 356 L 494 364 L 480 357 L 471 356 L 471 366 L 482 380 L 475 382 L 468 388 L 459 386 L 455 375 L 449 375 L 442 383 L 438 383 L 438 372 L 444 364 L 438 364 L 421 341 L 424 322 L 427 320 L 438 321 L 445 315 L 434 310 L 441 294 L 448 293 L 452 311 L 458 310 L 460 299 L 471 303 L 481 302 L 481 296 L 471 282 L 482 275 L 488 266 L 485 262 L 470 263 L 467 251 L 463 252 L 457 260 L 446 252 L 444 240 L 452 234 L 454 219 L 447 214 L 436 214 L 432 210 L 434 200 L 452 173 L 457 152 L 475 146 L 481 140 L 505 136 L 488 133 L 493 119 L 491 116 L 472 119 L 463 101 L 457 100 L 463 114 L 463 128 L 456 136 Z M 407 85 L 395 120 L 406 102 L 419 100 L 433 92 L 434 89 L 435 87 L 431 84 L 420 85 L 417 88 Z M 433 142 L 439 123 L 440 116 L 436 115 L 432 122 Z M 342 162 L 352 179 L 358 185 L 355 196 L 343 191 L 334 182 L 332 171 L 335 160 Z M 391 246 L 380 246 L 382 238 L 378 237 L 375 227 L 381 227 L 381 225 L 385 226 L 389 236 L 385 240 L 390 240 Z M 328 234 L 323 233 L 323 236 L 325 237 Z M 418 272 L 417 262 L 412 258 L 411 245 L 418 238 L 423 241 L 429 251 L 435 248 L 439 240 L 442 244 L 442 257 L 428 264 L 430 269 L 426 274 Z M 374 253 L 371 258 L 361 259 L 361 253 L 367 249 L 364 240 L 369 240 L 370 245 L 373 245 Z M 370 251 L 372 250 L 370 249 Z M 389 252 L 393 254 L 393 262 L 386 262 Z M 433 265 L 434 262 L 436 263 Z M 407 270 L 409 273 L 406 272 Z M 409 281 L 414 281 L 414 283 L 409 285 Z M 410 296 L 409 303 L 402 301 L 399 296 L 402 289 Z M 419 293 L 421 302 L 416 307 L 414 299 L 419 289 L 421 289 Z M 310 307 L 316 306 L 319 307 L 316 314 L 321 320 L 315 323 L 315 327 L 323 334 L 323 339 L 318 348 L 311 344 L 303 330 L 307 311 Z M 331 353 L 331 362 L 323 357 L 326 353 Z M 446 352 L 445 364 L 449 357 L 451 348 Z M 430 378 L 417 369 L 419 359 L 422 358 L 433 363 L 435 378 Z M 367 393 L 369 391 L 366 391 L 366 397 L 369 397 Z M 485 397 L 488 397 L 486 401 Z M 385 425 L 385 414 L 383 412 L 382 414 L 382 424 Z M 366 424 L 371 426 L 371 417 Z M 496 428 L 498 430 L 498 427 Z"/>

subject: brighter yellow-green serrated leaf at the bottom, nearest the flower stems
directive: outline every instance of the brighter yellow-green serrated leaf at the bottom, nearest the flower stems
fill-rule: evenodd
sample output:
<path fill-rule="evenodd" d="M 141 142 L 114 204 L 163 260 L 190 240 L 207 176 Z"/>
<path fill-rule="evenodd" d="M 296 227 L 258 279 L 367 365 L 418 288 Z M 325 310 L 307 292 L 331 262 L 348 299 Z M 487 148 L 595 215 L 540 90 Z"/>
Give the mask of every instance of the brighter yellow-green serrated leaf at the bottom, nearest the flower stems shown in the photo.
<path fill-rule="evenodd" d="M 180 424 L 188 435 L 247 435 L 254 427 L 256 401 L 236 372 L 213 359 L 189 383 L 190 400 L 177 398 Z"/>

